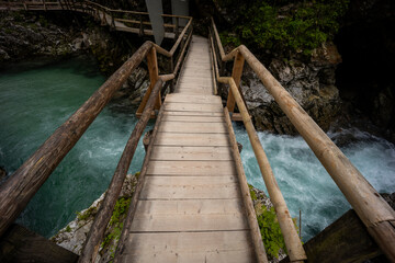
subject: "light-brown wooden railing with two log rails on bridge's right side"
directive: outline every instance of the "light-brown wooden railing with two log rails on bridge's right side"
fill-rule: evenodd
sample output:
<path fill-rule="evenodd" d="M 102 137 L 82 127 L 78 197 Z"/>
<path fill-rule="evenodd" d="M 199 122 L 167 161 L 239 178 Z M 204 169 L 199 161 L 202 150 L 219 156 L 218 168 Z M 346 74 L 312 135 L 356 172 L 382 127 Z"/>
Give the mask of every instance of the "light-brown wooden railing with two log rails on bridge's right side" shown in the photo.
<path fill-rule="evenodd" d="M 257 73 L 266 89 L 323 163 L 363 221 L 371 237 L 387 259 L 395 262 L 395 211 L 390 205 L 246 46 L 240 45 L 229 54 L 225 54 L 213 19 L 211 44 L 216 80 L 230 87 L 227 100 L 229 112 L 233 112 L 234 102 L 236 102 L 241 113 L 266 186 L 275 208 L 290 261 L 306 260 L 306 254 L 241 96 L 239 84 L 245 61 Z M 232 77 L 221 77 L 217 60 L 225 62 L 233 59 L 235 61 Z"/>

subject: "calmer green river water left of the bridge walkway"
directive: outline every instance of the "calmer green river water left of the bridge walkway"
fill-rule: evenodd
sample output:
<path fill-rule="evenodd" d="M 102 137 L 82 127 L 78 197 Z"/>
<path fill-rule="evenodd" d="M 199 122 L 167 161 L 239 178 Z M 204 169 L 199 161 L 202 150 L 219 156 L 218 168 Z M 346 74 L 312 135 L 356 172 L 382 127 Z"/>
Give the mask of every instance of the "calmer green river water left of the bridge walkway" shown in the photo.
<path fill-rule="evenodd" d="M 0 165 L 15 171 L 104 81 L 88 57 L 2 69 Z M 103 110 L 19 222 L 50 237 L 108 188 L 136 123 L 135 110 L 120 112 L 121 106 L 112 103 Z M 144 155 L 140 142 L 129 172 L 140 170 Z"/>

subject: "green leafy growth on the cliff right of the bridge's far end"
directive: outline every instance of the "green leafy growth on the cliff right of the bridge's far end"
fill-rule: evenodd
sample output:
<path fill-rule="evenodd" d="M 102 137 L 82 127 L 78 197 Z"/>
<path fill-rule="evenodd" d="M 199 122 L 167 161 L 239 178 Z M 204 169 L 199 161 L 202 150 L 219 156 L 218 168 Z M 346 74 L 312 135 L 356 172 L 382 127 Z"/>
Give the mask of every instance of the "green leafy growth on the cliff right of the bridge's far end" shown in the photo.
<path fill-rule="evenodd" d="M 332 39 L 349 0 L 255 1 L 240 9 L 240 16 L 225 44 L 240 43 L 263 49 L 291 50 L 309 55 L 321 43 Z M 284 11 L 284 5 L 292 8 Z"/>

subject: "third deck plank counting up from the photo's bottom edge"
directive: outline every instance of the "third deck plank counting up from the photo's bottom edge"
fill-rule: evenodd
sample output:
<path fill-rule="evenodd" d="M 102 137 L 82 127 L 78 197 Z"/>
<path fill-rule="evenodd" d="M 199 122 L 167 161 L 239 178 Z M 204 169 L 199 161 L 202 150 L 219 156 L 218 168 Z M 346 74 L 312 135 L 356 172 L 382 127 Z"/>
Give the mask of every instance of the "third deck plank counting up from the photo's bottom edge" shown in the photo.
<path fill-rule="evenodd" d="M 146 178 L 139 199 L 226 199 L 239 197 L 235 175 L 155 175 Z"/>

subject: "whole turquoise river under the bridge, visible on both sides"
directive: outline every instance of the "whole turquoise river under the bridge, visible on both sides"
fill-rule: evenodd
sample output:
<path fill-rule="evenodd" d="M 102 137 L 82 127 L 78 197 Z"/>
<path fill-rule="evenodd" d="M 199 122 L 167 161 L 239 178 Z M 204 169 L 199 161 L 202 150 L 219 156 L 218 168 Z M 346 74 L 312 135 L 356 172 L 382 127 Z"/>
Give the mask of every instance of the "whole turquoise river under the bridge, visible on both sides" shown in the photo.
<path fill-rule="evenodd" d="M 15 171 L 104 81 L 88 57 L 0 69 L 0 167 Z M 20 224 L 50 237 L 105 191 L 137 122 L 135 108 L 121 107 L 110 103 L 103 110 L 27 205 Z M 246 130 L 239 124 L 234 128 L 244 146 L 248 182 L 266 191 Z M 347 133 L 357 140 L 341 148 L 346 156 L 379 192 L 395 192 L 395 146 L 358 129 L 328 135 L 336 141 Z M 350 208 L 301 137 L 259 137 L 291 215 L 302 211 L 304 241 Z M 139 171 L 144 155 L 140 141 L 131 173 Z"/>

